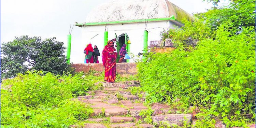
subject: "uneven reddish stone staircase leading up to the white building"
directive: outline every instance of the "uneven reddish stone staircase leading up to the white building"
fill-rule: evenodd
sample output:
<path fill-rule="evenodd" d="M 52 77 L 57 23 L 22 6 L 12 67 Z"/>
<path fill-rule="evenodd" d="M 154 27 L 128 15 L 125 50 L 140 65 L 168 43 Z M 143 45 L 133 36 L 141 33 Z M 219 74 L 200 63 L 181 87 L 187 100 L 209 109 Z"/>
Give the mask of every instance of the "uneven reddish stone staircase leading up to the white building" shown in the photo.
<path fill-rule="evenodd" d="M 170 114 L 175 110 L 170 110 L 166 104 L 153 103 L 151 106 L 143 104 L 145 97 L 132 95 L 128 87 L 140 86 L 137 81 L 125 83 L 96 83 L 102 84 L 101 90 L 89 91 L 87 96 L 79 96 L 77 99 L 90 105 L 94 112 L 87 119 L 83 126 L 71 125 L 73 128 L 155 128 L 162 122 L 182 125 L 184 117 L 188 122 L 192 116 L 189 114 Z M 146 124 L 139 113 L 150 107 L 153 123 Z M 137 123 L 141 120 L 142 124 Z"/>

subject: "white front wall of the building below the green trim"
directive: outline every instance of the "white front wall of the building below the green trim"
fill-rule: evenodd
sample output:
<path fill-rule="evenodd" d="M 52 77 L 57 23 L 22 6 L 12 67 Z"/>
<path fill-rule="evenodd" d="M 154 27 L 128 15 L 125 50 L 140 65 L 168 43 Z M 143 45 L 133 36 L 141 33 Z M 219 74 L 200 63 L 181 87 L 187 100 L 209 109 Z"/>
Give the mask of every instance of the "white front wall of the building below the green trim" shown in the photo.
<path fill-rule="evenodd" d="M 142 53 L 143 50 L 143 34 L 145 23 L 128 23 L 128 24 L 113 24 L 106 25 L 108 28 L 108 40 L 112 40 L 115 38 L 115 33 L 117 37 L 122 33 L 127 33 L 129 39 L 131 41 L 130 45 L 130 53 L 134 55 L 138 55 L 138 53 Z M 167 28 L 175 28 L 174 24 L 169 21 L 156 21 L 156 22 L 148 22 L 146 30 L 148 31 L 148 46 L 150 45 L 150 41 L 160 40 L 160 32 L 163 29 Z M 75 61 L 75 63 L 83 63 L 85 54 L 82 53 L 83 49 L 86 47 L 86 44 L 91 43 L 93 46 L 97 45 L 100 51 L 100 54 L 103 50 L 103 42 L 104 42 L 104 31 L 105 25 L 92 25 L 85 26 L 82 30 L 82 41 L 80 45 L 75 48 L 81 51 L 81 54 L 76 55 L 81 58 L 81 61 Z M 97 35 L 98 34 L 98 35 Z M 96 35 L 96 37 L 94 37 Z M 94 38 L 93 38 L 94 37 Z M 93 38 L 93 39 L 91 39 Z M 99 57 L 99 62 L 102 63 L 101 56 Z M 133 59 L 130 59 L 130 62 L 134 62 Z"/>

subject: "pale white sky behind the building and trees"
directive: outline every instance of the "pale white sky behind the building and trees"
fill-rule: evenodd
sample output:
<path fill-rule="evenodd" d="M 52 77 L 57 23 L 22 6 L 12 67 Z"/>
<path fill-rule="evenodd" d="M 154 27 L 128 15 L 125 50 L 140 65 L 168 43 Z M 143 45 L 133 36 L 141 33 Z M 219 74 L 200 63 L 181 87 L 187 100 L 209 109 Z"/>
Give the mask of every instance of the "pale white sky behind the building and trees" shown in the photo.
<path fill-rule="evenodd" d="M 41 36 L 42 39 L 57 37 L 67 46 L 70 24 L 84 23 L 87 14 L 97 5 L 110 0 L 1 0 L 0 42 L 13 41 L 21 35 Z M 169 0 L 186 12 L 193 14 L 206 12 L 213 6 L 202 0 Z M 82 28 L 72 30 L 71 62 L 73 45 L 81 42 Z M 83 46 L 84 47 L 84 46 Z M 82 51 L 81 51 L 82 52 Z M 82 58 L 83 59 L 83 58 Z"/>

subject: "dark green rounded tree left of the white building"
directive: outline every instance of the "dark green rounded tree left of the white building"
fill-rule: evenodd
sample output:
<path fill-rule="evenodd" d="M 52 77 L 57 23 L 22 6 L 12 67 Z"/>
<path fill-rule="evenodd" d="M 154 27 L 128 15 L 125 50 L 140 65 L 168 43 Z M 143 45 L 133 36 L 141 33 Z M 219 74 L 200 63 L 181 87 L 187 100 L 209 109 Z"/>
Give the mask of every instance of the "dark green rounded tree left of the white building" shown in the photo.
<path fill-rule="evenodd" d="M 56 38 L 22 36 L 1 46 L 1 79 L 11 78 L 28 69 L 43 70 L 54 74 L 71 72 L 63 55 L 66 47 Z"/>

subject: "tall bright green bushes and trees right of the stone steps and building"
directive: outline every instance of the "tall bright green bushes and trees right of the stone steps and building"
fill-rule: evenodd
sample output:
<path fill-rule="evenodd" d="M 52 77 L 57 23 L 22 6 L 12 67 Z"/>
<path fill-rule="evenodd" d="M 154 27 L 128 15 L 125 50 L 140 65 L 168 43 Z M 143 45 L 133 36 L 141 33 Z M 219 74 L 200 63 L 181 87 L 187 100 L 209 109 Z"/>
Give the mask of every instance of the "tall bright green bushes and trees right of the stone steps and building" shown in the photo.
<path fill-rule="evenodd" d="M 184 20 L 182 29 L 161 33 L 172 39 L 174 51 L 149 53 L 138 63 L 146 100 L 179 102 L 180 110 L 196 106 L 202 126 L 220 118 L 227 127 L 246 127 L 255 122 L 255 0 L 195 17 L 193 23 Z"/>

